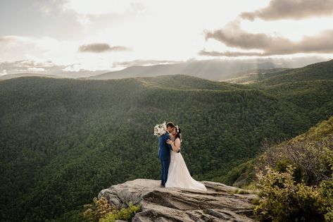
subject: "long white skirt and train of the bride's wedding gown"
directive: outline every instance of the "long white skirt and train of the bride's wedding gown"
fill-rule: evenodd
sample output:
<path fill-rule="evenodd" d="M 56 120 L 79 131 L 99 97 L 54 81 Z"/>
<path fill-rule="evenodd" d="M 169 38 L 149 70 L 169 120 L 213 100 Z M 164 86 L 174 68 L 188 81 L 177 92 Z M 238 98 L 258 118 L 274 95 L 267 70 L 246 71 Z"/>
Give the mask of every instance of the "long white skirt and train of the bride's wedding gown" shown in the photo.
<path fill-rule="evenodd" d="M 165 187 L 179 187 L 194 190 L 207 190 L 205 185 L 194 180 L 182 158 L 181 153 L 170 151 L 170 166 Z"/>

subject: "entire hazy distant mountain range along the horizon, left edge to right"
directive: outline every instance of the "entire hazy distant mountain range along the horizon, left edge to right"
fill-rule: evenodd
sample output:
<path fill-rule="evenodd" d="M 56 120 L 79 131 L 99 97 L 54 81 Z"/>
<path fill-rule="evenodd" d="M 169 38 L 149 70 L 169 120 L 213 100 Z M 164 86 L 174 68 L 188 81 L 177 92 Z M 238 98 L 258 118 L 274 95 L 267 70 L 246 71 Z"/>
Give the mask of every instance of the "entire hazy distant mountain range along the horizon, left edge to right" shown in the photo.
<path fill-rule="evenodd" d="M 248 60 L 202 60 L 184 61 L 180 63 L 159 64 L 154 66 L 130 66 L 122 70 L 108 72 L 106 70 L 65 71 L 63 66 L 46 67 L 46 73 L 13 73 L 0 75 L 0 80 L 21 76 L 44 76 L 54 78 L 82 78 L 91 80 L 109 80 L 135 77 L 154 77 L 158 75 L 191 75 L 206 80 L 242 83 L 251 82 L 258 73 L 272 73 L 280 68 L 300 68 L 311 63 L 322 61 L 323 58 L 298 59 L 248 59 Z M 1 68 L 1 63 L 0 63 Z"/>

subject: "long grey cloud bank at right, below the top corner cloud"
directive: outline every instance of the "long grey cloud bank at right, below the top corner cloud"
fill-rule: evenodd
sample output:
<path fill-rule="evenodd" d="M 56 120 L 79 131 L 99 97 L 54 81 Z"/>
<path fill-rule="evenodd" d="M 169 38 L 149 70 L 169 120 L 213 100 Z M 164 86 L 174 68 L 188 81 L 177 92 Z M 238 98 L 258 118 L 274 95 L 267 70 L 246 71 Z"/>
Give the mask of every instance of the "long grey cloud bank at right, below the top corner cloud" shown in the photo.
<path fill-rule="evenodd" d="M 206 32 L 207 39 L 215 39 L 227 47 L 234 47 L 253 51 L 200 51 L 206 56 L 270 56 L 298 53 L 333 53 L 333 30 L 325 30 L 313 36 L 304 36 L 298 42 L 291 41 L 279 35 L 265 33 L 249 33 L 241 30 L 238 22 L 230 23 L 223 30 Z"/>

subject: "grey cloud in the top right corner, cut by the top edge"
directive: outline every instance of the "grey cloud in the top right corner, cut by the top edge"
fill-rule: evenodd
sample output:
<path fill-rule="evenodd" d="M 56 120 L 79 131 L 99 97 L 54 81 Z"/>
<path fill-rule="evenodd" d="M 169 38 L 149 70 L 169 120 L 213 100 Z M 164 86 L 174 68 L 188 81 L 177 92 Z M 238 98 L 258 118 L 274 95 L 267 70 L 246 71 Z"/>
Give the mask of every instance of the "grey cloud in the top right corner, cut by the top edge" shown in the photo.
<path fill-rule="evenodd" d="M 333 0 L 271 0 L 270 4 L 254 12 L 241 13 L 241 18 L 254 20 L 295 19 L 333 15 Z"/>

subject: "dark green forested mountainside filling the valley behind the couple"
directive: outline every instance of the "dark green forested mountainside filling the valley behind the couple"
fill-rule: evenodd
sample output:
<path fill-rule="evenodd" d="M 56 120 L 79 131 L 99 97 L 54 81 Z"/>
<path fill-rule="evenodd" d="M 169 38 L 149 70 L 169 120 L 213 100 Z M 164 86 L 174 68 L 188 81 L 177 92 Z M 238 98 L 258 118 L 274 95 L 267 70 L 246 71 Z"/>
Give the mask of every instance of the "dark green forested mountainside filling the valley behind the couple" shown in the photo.
<path fill-rule="evenodd" d="M 260 154 L 265 138 L 294 137 L 333 115 L 331 66 L 253 85 L 187 75 L 1 81 L 0 220 L 68 216 L 110 185 L 159 179 L 153 126 L 163 121 L 182 128 L 194 178 L 233 183 L 221 175 Z"/>

